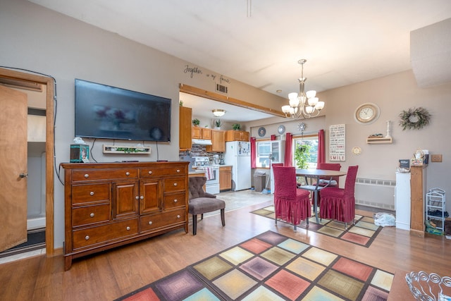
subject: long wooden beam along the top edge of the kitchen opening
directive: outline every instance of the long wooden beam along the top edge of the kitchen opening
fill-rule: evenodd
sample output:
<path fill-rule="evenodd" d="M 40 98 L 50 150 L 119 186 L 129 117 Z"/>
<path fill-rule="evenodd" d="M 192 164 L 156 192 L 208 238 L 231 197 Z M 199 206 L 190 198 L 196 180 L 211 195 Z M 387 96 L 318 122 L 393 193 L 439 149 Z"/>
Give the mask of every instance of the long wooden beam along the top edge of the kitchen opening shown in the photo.
<path fill-rule="evenodd" d="M 232 104 L 233 106 L 240 106 L 242 108 L 259 111 L 262 113 L 268 113 L 278 117 L 285 117 L 285 114 L 282 111 L 267 108 L 266 106 L 259 106 L 258 104 L 252 104 L 250 102 L 245 102 L 243 100 L 228 97 L 223 94 L 218 94 L 215 92 L 199 89 L 197 87 L 192 87 L 190 85 L 180 84 L 180 92 L 216 100 L 217 102 L 223 102 L 225 104 Z"/>

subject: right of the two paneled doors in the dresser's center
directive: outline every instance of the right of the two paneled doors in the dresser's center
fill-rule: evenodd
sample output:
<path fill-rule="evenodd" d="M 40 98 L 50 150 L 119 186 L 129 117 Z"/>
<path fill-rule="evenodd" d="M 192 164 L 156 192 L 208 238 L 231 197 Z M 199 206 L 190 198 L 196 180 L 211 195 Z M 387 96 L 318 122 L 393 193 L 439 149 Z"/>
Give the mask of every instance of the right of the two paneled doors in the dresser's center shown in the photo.
<path fill-rule="evenodd" d="M 163 192 L 160 179 L 140 181 L 140 214 L 148 214 L 163 209 Z"/>

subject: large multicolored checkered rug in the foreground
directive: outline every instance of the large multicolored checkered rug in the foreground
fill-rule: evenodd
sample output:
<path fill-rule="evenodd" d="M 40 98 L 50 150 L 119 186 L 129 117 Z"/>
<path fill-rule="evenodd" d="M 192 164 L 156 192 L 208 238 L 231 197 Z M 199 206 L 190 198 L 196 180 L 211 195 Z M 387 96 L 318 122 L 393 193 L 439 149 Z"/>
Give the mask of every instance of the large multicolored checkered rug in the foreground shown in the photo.
<path fill-rule="evenodd" d="M 393 274 L 267 231 L 117 300 L 387 300 Z"/>

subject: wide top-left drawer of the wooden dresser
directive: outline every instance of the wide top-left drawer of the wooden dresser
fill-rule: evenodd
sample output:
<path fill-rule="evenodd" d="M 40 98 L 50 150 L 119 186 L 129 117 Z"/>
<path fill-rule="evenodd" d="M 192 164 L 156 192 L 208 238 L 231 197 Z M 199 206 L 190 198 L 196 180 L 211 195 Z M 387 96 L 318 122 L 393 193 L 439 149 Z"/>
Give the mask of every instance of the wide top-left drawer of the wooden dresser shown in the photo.
<path fill-rule="evenodd" d="M 81 169 L 72 172 L 72 180 L 111 180 L 111 179 L 126 179 L 137 178 L 137 168 L 121 168 L 121 169 Z"/>

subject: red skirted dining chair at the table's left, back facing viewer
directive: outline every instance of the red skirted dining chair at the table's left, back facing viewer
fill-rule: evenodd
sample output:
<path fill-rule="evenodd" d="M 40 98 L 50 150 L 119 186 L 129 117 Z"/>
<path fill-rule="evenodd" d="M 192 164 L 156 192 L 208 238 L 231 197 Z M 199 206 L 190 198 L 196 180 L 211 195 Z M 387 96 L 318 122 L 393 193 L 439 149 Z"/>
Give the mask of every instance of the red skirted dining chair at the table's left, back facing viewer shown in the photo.
<path fill-rule="evenodd" d="M 307 190 L 298 189 L 296 185 L 296 168 L 273 166 L 274 173 L 274 219 L 292 223 L 296 226 L 311 216 L 310 198 Z"/>

